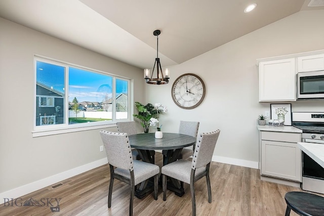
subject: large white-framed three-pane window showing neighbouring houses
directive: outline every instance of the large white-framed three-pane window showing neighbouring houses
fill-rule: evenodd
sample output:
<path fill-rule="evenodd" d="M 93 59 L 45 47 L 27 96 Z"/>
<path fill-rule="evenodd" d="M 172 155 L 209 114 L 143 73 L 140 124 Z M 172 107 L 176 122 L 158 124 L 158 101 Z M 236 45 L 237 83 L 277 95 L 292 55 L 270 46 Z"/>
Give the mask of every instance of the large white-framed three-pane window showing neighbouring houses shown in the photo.
<path fill-rule="evenodd" d="M 34 128 L 102 125 L 130 119 L 130 80 L 35 57 Z"/>

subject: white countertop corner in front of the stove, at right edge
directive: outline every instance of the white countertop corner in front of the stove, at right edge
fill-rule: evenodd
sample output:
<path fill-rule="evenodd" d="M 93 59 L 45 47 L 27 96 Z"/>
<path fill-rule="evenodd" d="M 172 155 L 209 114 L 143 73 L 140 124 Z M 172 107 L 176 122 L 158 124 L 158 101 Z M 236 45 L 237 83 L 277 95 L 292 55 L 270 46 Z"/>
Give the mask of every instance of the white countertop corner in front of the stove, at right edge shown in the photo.
<path fill-rule="evenodd" d="M 297 143 L 298 147 L 319 165 L 324 167 L 324 144 Z"/>

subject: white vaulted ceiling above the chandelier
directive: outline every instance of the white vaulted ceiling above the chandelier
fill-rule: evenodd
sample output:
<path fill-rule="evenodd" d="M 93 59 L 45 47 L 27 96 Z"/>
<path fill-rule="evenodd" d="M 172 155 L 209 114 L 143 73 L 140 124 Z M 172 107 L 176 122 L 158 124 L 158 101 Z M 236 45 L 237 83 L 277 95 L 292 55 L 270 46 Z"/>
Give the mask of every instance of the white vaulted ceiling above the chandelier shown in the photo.
<path fill-rule="evenodd" d="M 139 68 L 180 64 L 324 0 L 0 0 L 0 17 Z M 257 8 L 244 13 L 256 3 Z"/>

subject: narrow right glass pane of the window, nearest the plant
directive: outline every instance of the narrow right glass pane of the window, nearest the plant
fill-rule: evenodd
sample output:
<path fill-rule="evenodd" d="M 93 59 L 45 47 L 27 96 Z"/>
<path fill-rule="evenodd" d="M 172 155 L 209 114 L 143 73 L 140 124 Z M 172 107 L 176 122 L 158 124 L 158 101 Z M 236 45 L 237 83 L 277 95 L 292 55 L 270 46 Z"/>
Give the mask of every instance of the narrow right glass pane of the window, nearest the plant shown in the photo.
<path fill-rule="evenodd" d="M 128 118 L 128 81 L 116 79 L 116 119 Z"/>

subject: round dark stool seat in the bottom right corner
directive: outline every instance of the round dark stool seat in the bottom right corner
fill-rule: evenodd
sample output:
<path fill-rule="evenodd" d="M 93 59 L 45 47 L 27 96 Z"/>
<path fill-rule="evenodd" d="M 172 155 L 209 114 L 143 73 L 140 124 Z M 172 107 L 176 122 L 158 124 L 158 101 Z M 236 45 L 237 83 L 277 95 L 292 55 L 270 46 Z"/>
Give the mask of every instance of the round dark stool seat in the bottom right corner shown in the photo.
<path fill-rule="evenodd" d="M 285 200 L 287 203 L 286 216 L 290 214 L 290 210 L 299 215 L 324 215 L 324 197 L 292 191 L 286 193 Z"/>

